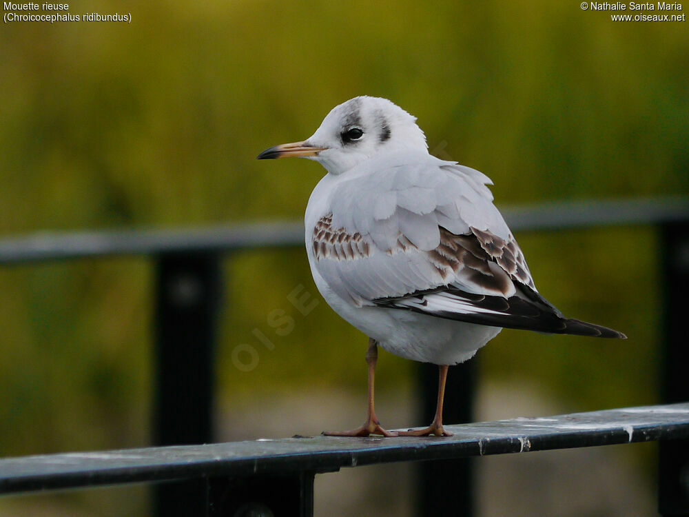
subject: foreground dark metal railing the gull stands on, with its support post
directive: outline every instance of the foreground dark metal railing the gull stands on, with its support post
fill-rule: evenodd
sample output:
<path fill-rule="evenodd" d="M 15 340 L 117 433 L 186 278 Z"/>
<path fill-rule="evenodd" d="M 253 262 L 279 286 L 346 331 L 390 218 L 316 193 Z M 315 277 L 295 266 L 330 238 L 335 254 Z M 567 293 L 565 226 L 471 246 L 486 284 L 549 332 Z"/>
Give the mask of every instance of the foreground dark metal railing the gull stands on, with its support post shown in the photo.
<path fill-rule="evenodd" d="M 205 498 L 183 509 L 185 515 L 305 516 L 312 513 L 316 474 L 384 462 L 686 440 L 689 403 L 446 428 L 454 436 L 395 440 L 313 436 L 8 458 L 0 460 L 0 494 L 196 479 L 206 489 Z M 452 492 L 445 494 L 455 497 Z M 245 513 L 237 513 L 240 508 Z"/>

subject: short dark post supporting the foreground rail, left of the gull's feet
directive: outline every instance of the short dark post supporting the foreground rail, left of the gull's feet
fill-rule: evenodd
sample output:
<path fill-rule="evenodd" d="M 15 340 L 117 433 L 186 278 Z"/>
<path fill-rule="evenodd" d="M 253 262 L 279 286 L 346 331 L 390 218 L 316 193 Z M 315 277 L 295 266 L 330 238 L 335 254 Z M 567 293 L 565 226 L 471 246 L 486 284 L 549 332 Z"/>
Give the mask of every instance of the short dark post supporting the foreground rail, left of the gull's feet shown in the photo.
<path fill-rule="evenodd" d="M 208 517 L 313 517 L 313 472 L 211 478 Z"/>

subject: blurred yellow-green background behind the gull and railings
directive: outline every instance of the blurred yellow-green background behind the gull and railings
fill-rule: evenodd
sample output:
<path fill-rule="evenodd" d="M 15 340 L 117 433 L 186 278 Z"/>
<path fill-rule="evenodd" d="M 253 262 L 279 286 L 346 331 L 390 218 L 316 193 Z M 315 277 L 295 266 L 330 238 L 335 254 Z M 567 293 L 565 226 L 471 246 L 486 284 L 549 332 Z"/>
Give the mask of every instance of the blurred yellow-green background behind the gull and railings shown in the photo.
<path fill-rule="evenodd" d="M 614 23 L 546 0 L 76 0 L 69 12 L 115 11 L 132 23 L 0 30 L 3 237 L 301 219 L 324 171 L 256 154 L 305 139 L 359 94 L 418 116 L 431 150 L 493 179 L 499 206 L 689 193 L 686 22 Z M 517 239 L 550 301 L 629 339 L 505 331 L 479 352 L 482 378 L 530 378 L 570 411 L 656 401 L 652 230 Z M 248 400 L 260 414 L 290 390 L 351 389 L 356 425 L 365 338 L 325 303 L 304 317 L 287 302 L 299 284 L 320 299 L 305 252 L 240 253 L 225 270 L 218 411 Z M 1 456 L 149 443 L 151 287 L 145 258 L 0 269 Z M 294 332 L 274 334 L 273 309 L 294 317 Z M 258 347 L 256 328 L 276 348 L 241 372 L 232 351 Z M 381 362 L 382 392 L 409 389 L 410 363 Z M 55 504 L 145 511 L 138 496 L 112 496 L 121 513 L 89 497 Z"/>

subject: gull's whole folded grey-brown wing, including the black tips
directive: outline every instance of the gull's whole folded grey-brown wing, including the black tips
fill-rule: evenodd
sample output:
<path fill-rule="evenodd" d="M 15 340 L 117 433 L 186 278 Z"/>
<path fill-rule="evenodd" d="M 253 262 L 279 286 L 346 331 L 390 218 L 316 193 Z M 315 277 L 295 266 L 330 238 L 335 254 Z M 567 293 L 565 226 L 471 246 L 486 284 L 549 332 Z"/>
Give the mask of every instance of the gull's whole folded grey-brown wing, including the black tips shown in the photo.
<path fill-rule="evenodd" d="M 482 173 L 398 156 L 352 174 L 313 227 L 313 265 L 351 303 L 495 327 L 586 336 L 617 331 L 562 314 L 538 294 Z M 375 193 L 375 194 L 373 194 Z"/>

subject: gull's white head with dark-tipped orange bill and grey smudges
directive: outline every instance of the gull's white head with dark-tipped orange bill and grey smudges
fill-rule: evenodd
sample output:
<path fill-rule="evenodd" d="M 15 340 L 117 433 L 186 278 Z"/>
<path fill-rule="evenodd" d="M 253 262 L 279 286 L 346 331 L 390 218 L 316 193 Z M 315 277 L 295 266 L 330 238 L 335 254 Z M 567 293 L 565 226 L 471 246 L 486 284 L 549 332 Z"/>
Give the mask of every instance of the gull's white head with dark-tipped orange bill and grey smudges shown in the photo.
<path fill-rule="evenodd" d="M 354 97 L 333 108 L 305 141 L 276 145 L 258 159 L 302 156 L 342 174 L 378 153 L 396 150 L 428 152 L 416 117 L 387 99 Z"/>

